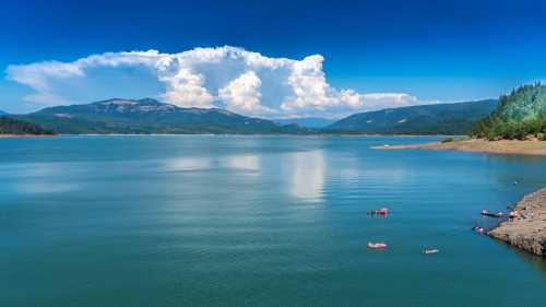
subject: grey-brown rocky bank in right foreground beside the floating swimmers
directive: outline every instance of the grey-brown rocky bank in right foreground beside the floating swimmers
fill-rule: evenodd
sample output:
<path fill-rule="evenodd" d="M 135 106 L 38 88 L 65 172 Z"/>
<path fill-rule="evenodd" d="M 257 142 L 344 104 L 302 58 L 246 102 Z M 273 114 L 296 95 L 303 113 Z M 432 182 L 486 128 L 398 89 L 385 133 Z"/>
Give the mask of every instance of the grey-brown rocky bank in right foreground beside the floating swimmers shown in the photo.
<path fill-rule="evenodd" d="M 546 257 L 546 188 L 525 196 L 515 206 L 520 217 L 506 221 L 488 235 L 519 249 Z"/>

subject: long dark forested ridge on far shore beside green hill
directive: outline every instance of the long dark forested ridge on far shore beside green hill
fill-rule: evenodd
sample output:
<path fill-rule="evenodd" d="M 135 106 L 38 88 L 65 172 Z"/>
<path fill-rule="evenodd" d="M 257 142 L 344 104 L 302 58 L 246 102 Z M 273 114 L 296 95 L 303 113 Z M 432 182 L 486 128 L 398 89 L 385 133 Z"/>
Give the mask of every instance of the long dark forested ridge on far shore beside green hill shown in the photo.
<path fill-rule="evenodd" d="M 332 132 L 387 134 L 464 134 L 495 110 L 498 101 L 419 105 L 359 113 L 325 128 Z"/>

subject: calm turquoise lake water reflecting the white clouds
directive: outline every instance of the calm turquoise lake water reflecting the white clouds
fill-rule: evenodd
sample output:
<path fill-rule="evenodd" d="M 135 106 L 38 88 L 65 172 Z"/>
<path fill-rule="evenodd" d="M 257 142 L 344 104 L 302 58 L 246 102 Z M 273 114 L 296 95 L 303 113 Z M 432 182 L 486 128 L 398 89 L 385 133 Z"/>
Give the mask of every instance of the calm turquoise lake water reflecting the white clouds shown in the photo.
<path fill-rule="evenodd" d="M 0 140 L 0 306 L 544 306 L 546 261 L 470 228 L 546 158 L 369 149 L 435 139 Z"/>

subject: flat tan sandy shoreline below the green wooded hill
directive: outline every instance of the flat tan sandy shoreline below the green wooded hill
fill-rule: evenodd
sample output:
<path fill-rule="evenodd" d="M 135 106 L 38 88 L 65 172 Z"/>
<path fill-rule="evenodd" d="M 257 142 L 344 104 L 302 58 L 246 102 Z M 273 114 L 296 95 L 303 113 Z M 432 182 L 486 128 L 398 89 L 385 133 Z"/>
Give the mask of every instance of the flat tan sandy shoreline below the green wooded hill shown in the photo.
<path fill-rule="evenodd" d="M 525 155 L 546 155 L 546 141 L 519 141 L 501 140 L 486 141 L 482 139 L 472 139 L 454 141 L 448 143 L 426 143 L 410 145 L 375 146 L 376 150 L 453 150 L 463 152 L 482 152 L 492 154 L 525 154 Z"/>

